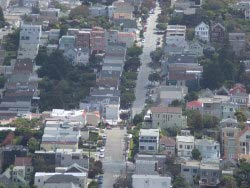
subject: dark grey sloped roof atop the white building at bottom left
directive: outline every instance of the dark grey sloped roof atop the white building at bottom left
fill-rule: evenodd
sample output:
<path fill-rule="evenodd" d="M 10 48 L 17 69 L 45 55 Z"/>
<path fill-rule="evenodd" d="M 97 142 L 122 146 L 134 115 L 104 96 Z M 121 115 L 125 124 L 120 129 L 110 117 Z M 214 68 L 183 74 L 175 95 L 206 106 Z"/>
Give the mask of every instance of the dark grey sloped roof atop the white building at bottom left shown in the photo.
<path fill-rule="evenodd" d="M 62 175 L 57 174 L 51 176 L 45 183 L 73 183 L 73 184 L 80 184 L 78 178 L 73 175 Z"/>

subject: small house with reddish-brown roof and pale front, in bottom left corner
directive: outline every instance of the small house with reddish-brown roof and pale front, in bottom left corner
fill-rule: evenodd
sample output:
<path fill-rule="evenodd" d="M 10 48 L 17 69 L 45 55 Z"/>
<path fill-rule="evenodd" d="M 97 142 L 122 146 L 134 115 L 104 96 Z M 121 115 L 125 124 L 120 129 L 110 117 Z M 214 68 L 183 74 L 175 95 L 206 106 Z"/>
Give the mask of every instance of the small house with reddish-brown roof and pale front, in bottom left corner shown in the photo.
<path fill-rule="evenodd" d="M 29 184 L 33 176 L 33 166 L 31 157 L 16 157 L 13 168 L 13 180 L 22 179 Z"/>

